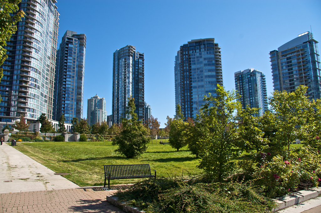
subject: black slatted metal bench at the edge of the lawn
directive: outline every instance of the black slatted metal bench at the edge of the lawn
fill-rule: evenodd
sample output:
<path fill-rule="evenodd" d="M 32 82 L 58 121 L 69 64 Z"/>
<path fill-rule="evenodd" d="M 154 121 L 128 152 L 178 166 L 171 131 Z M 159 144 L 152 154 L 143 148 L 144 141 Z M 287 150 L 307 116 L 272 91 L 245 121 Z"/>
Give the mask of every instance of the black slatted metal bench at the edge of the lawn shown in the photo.
<path fill-rule="evenodd" d="M 144 178 L 155 177 L 151 174 L 149 164 L 132 164 L 132 165 L 104 165 L 105 181 L 104 187 L 106 187 L 106 179 L 108 178 L 108 189 L 110 189 L 110 180 L 115 179 L 131 179 L 131 178 Z"/>

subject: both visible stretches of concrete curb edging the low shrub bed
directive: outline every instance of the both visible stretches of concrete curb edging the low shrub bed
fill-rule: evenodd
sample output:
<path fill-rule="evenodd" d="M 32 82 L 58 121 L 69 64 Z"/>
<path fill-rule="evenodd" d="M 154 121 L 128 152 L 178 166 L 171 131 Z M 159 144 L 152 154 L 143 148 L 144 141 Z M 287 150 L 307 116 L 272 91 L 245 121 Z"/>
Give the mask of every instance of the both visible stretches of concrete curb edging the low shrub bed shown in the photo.
<path fill-rule="evenodd" d="M 272 212 L 279 211 L 281 209 L 288 208 L 290 206 L 294 206 L 298 203 L 310 200 L 312 198 L 318 197 L 321 195 L 321 187 L 314 187 L 307 190 L 301 190 L 296 193 L 292 193 L 289 195 L 285 195 L 276 199 L 273 199 L 276 203 L 278 203 L 278 207 L 272 209 Z M 136 207 L 127 206 L 125 202 L 119 202 L 118 197 L 116 196 L 107 196 L 107 202 L 117 206 L 119 209 L 122 209 L 126 212 L 131 213 L 143 213 L 144 211 L 140 211 Z"/>

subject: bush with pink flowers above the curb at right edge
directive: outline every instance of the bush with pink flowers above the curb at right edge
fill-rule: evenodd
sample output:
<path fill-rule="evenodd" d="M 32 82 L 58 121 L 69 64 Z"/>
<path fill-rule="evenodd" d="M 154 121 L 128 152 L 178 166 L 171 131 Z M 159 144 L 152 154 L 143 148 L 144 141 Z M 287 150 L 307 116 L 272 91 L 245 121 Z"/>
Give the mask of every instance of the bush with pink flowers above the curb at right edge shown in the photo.
<path fill-rule="evenodd" d="M 297 152 L 292 151 L 287 160 L 281 155 L 271 160 L 260 158 L 253 177 L 256 184 L 264 187 L 269 197 L 284 195 L 296 188 L 302 180 L 318 186 L 321 177 L 320 156 L 317 150 L 305 146 Z"/>

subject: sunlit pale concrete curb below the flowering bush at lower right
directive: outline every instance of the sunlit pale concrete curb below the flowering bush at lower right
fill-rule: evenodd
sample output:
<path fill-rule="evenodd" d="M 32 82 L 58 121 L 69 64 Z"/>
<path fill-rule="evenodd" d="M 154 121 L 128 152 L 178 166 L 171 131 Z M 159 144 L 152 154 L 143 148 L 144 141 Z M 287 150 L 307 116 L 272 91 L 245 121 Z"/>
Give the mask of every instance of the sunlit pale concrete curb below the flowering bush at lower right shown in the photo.
<path fill-rule="evenodd" d="M 321 187 L 314 187 L 276 198 L 274 201 L 278 203 L 278 207 L 274 208 L 272 211 L 275 212 L 290 206 L 294 206 L 319 195 L 321 195 Z"/>

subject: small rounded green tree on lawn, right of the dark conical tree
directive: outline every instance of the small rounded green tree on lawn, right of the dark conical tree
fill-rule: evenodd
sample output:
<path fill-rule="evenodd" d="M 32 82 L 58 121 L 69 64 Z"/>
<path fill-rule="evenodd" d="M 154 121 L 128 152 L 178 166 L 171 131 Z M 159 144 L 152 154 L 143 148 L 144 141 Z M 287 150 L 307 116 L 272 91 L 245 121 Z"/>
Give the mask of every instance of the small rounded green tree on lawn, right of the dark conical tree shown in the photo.
<path fill-rule="evenodd" d="M 175 119 L 171 122 L 168 142 L 171 147 L 177 149 L 177 152 L 187 145 L 186 131 L 187 122 L 184 122 L 183 119 Z"/>

